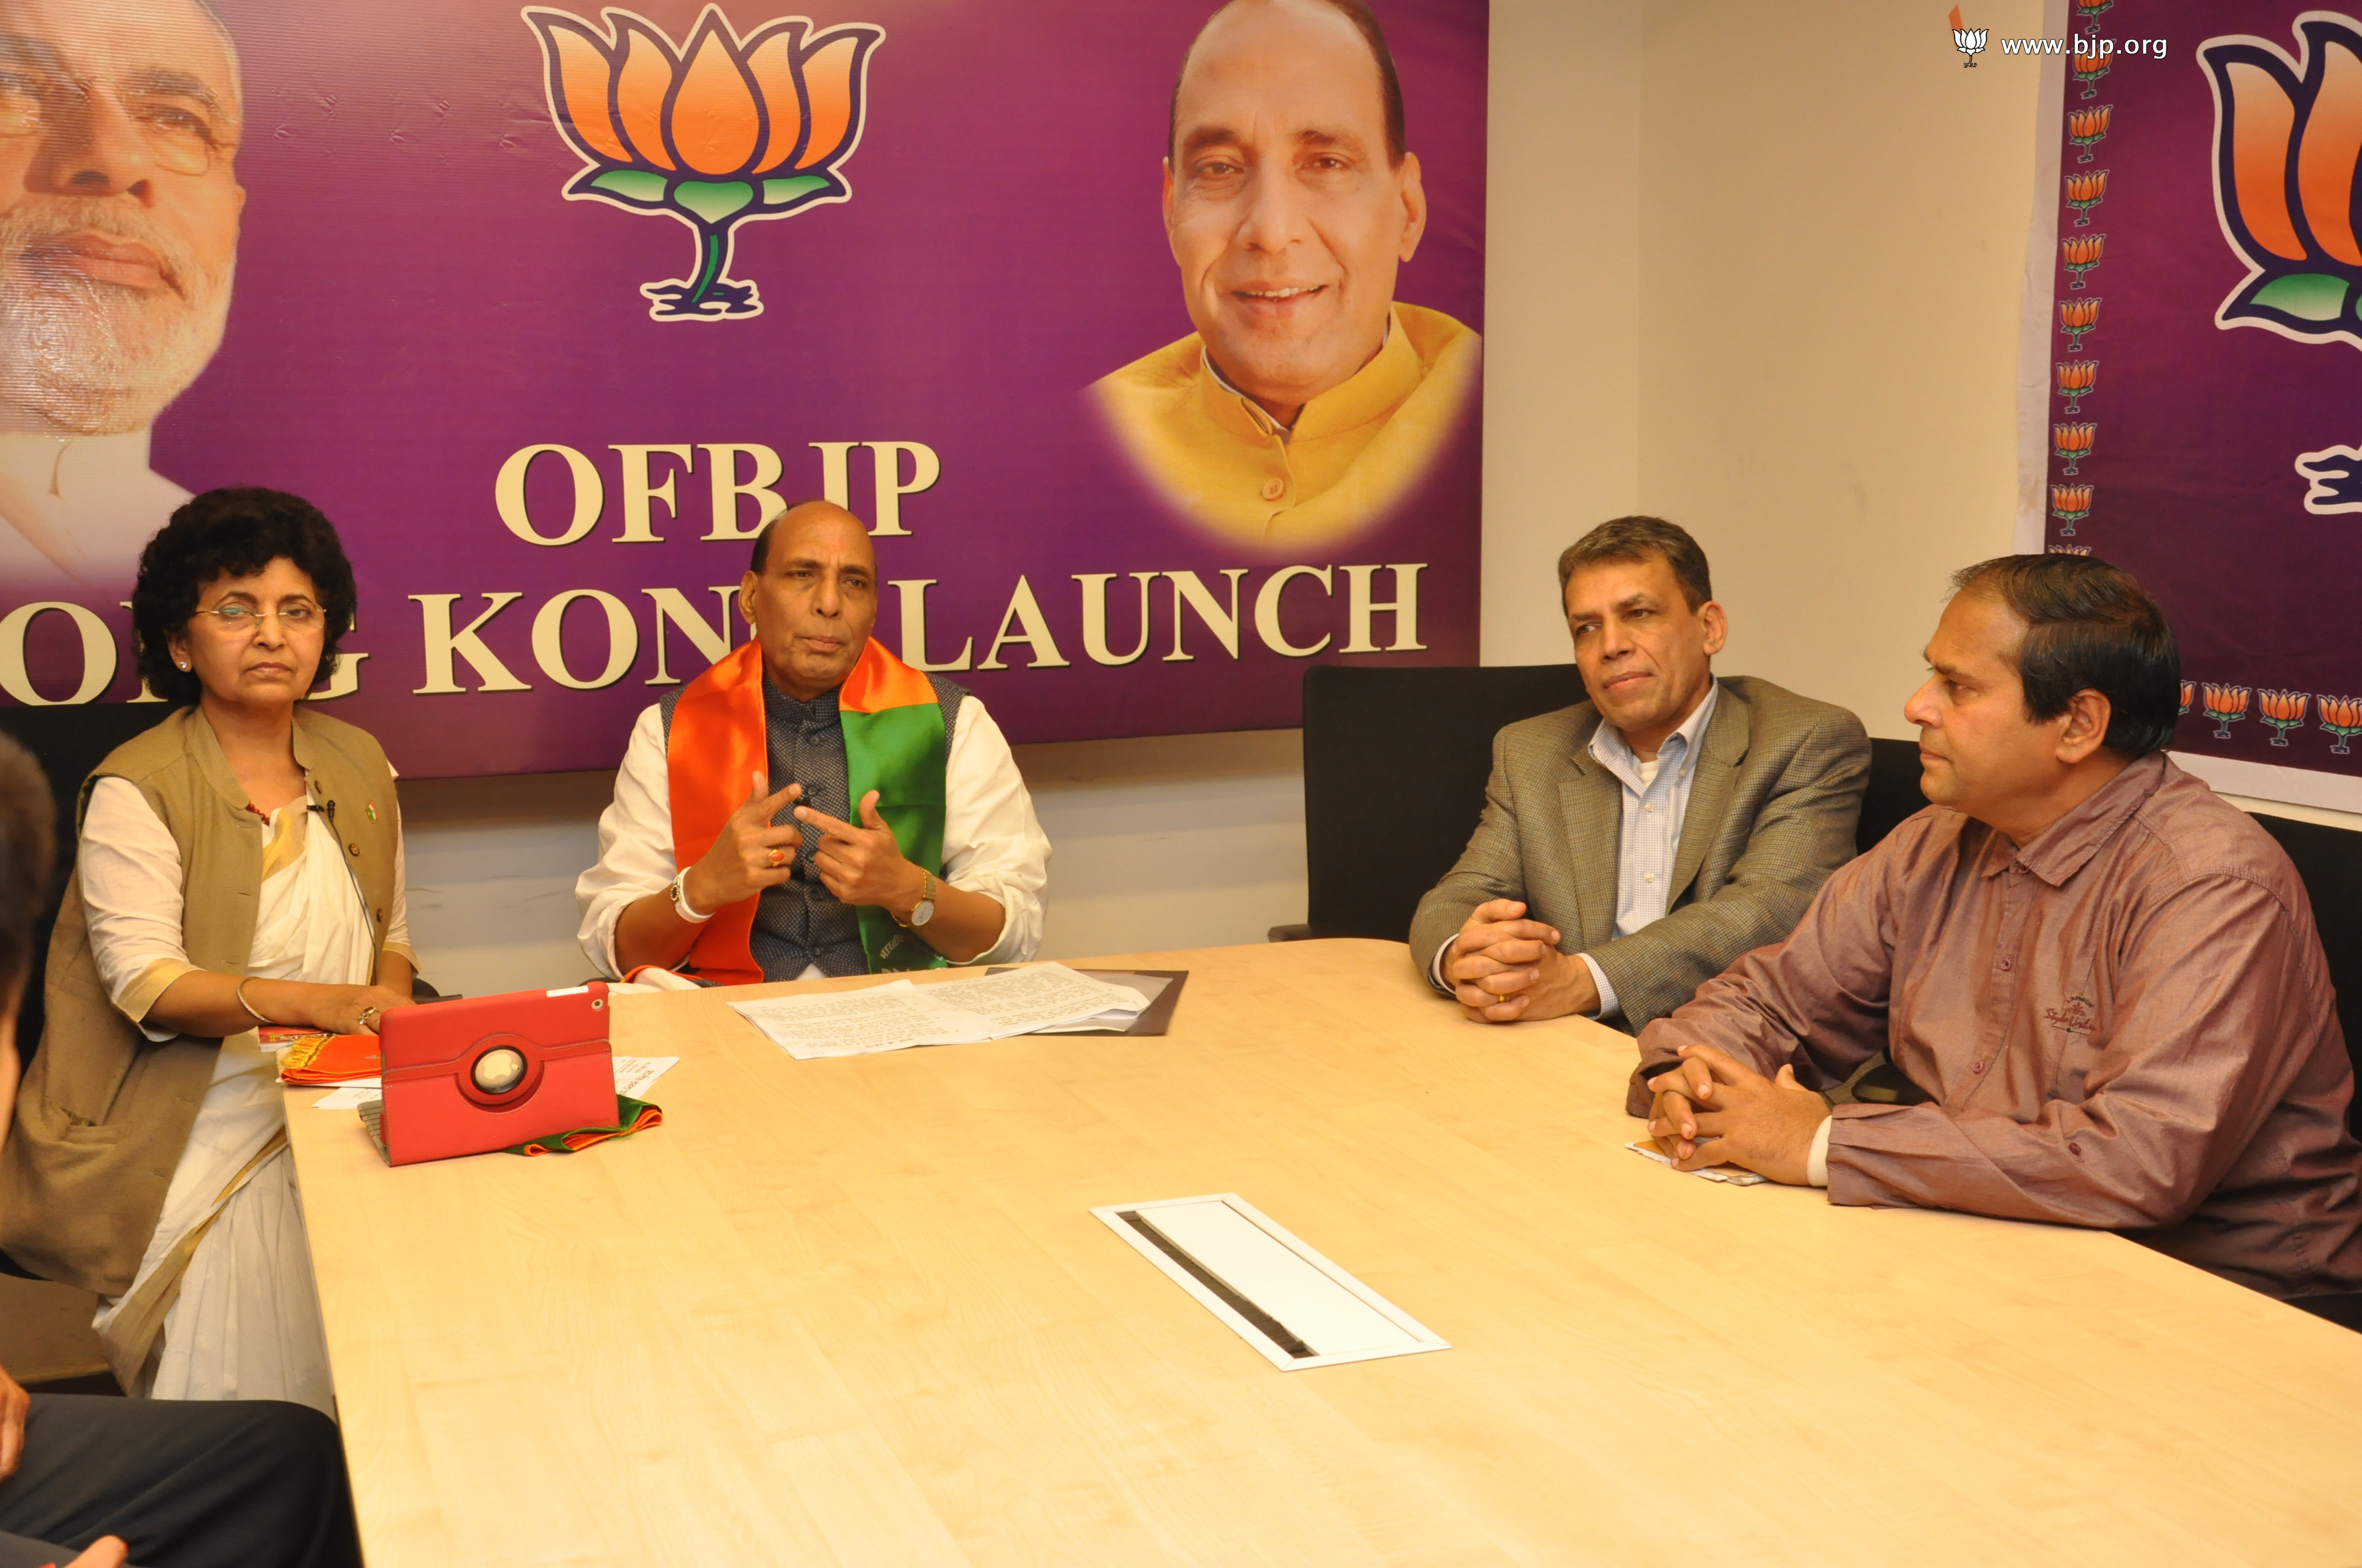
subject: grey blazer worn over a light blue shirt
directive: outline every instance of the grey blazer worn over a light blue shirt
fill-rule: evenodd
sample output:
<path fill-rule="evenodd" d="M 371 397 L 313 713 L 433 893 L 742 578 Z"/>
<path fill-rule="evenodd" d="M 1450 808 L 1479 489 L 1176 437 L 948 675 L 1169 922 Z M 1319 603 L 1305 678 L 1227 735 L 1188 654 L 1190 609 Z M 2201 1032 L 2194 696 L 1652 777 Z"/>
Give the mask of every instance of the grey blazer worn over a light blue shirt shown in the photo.
<path fill-rule="evenodd" d="M 1845 708 L 1753 675 L 1717 678 L 1698 746 L 1665 919 L 1616 940 L 1623 784 L 1590 749 L 1599 708 L 1526 718 L 1493 737 L 1476 836 L 1410 916 L 1410 961 L 1429 973 L 1467 916 L 1495 897 L 1587 952 L 1639 1032 L 1689 1001 L 1738 954 L 1781 942 L 1828 874 L 1854 857 L 1871 737 Z"/>

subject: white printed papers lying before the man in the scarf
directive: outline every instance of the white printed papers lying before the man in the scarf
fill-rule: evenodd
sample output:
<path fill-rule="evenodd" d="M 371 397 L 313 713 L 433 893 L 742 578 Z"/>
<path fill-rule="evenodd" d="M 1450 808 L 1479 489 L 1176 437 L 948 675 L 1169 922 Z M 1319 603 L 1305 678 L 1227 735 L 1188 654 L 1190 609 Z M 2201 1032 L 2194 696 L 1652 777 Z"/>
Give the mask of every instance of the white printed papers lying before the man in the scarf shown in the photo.
<path fill-rule="evenodd" d="M 905 1046 L 966 1046 L 1061 1025 L 1122 1027 L 1148 1011 L 1148 997 L 1129 985 L 1077 975 L 1063 963 L 1037 963 L 942 985 L 895 980 L 829 997 L 732 1001 L 730 1011 L 796 1060 L 810 1060 Z"/>

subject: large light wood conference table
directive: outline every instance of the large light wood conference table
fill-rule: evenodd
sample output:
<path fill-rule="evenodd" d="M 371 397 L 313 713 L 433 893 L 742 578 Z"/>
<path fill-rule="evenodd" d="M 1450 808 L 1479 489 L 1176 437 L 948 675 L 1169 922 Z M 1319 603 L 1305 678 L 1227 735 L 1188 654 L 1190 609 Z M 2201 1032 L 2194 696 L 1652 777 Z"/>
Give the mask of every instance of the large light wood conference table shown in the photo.
<path fill-rule="evenodd" d="M 371 1566 L 2362 1563 L 2362 1334 L 1660 1167 L 1627 1037 L 1398 942 L 1072 963 L 1186 968 L 1172 1032 L 794 1060 L 725 1001 L 876 980 L 628 994 L 661 1126 L 399 1169 L 291 1091 Z M 1091 1214 L 1200 1193 L 1450 1348 L 1283 1372 Z"/>

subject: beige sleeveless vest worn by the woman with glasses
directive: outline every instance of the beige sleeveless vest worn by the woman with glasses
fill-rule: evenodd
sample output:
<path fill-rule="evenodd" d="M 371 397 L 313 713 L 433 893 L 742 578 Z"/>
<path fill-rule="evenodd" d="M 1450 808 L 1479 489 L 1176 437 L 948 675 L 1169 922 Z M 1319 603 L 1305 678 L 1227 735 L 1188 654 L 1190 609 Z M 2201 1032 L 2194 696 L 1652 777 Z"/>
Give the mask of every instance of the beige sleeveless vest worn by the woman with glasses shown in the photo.
<path fill-rule="evenodd" d="M 392 767 L 364 730 L 305 706 L 295 763 L 324 812 L 309 831 L 345 845 L 383 952 L 399 845 Z M 118 746 L 83 784 L 76 819 L 97 779 L 130 779 L 180 843 L 189 963 L 243 975 L 262 895 L 262 817 L 246 810 L 213 725 L 182 708 Z M 45 982 L 47 1027 L 0 1152 L 0 1249 L 52 1280 L 120 1296 L 156 1233 L 222 1041 L 182 1034 L 158 1046 L 113 1006 L 80 874 L 66 886 Z"/>

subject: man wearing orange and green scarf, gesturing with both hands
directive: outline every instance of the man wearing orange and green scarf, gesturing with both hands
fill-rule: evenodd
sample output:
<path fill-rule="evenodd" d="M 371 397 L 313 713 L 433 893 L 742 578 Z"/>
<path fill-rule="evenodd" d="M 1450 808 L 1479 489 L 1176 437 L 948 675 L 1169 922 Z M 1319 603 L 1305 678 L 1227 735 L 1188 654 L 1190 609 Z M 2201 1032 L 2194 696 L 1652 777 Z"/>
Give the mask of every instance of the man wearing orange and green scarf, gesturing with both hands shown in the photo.
<path fill-rule="evenodd" d="M 716 985 L 1016 963 L 1049 838 L 985 704 L 879 642 L 876 550 L 827 501 L 753 541 L 753 640 L 640 713 L 574 886 L 607 975 Z"/>

